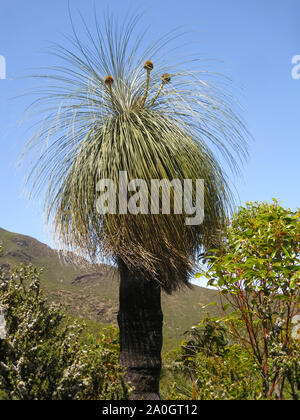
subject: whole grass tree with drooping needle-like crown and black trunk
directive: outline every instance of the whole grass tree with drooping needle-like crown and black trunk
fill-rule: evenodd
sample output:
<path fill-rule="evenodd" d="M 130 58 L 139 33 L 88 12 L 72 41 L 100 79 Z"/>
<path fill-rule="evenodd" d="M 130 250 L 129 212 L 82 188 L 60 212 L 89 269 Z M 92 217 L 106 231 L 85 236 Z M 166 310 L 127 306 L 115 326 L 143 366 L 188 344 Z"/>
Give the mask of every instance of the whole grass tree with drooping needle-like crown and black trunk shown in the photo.
<path fill-rule="evenodd" d="M 85 26 L 84 41 L 74 30 L 71 47 L 53 47 L 61 64 L 37 76 L 50 83 L 37 90 L 32 106 L 44 117 L 27 151 L 38 150 L 29 182 L 45 194 L 60 243 L 91 261 L 117 264 L 120 361 L 135 387 L 132 398 L 158 399 L 161 291 L 189 286 L 199 250 L 217 246 L 232 204 L 224 168 L 238 171 L 247 131 L 231 96 L 209 83 L 213 73 L 201 70 L 200 61 L 171 63 L 174 50 L 166 51 L 174 32 L 143 49 L 137 23 L 137 17 L 125 23 L 108 17 L 95 22 L 93 33 Z M 203 179 L 203 223 L 188 225 L 185 208 L 177 214 L 182 201 L 174 189 L 170 214 L 161 203 L 151 214 L 138 190 L 128 191 L 138 214 L 118 207 L 99 213 L 99 181 L 113 181 L 118 196 L 120 172 L 128 182 L 146 182 L 148 203 L 153 179 L 182 185 Z M 191 198 L 195 204 L 194 189 Z"/>

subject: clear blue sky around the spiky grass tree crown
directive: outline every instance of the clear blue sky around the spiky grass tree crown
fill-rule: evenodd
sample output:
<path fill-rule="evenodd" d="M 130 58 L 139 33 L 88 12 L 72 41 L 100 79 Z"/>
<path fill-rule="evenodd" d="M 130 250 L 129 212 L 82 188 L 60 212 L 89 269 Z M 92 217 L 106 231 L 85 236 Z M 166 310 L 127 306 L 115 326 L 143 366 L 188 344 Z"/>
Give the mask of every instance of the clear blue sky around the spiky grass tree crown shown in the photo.
<path fill-rule="evenodd" d="M 250 160 L 237 182 L 240 203 L 278 198 L 299 206 L 300 78 L 292 78 L 292 58 L 300 55 L 299 0 L 70 0 L 89 21 L 93 4 L 101 14 L 122 16 L 145 11 L 149 34 L 163 35 L 180 25 L 196 29 L 190 40 L 205 58 L 224 62 L 222 71 L 243 87 L 243 118 L 253 135 Z M 43 54 L 49 42 L 70 34 L 67 0 L 0 0 L 0 55 L 6 79 L 0 80 L 0 227 L 51 243 L 45 233 L 42 203 L 22 194 L 23 172 L 16 161 L 29 121 L 18 125 L 26 99 L 11 100 L 30 80 L 16 80 L 28 68 L 54 63 Z M 54 61 L 53 61 L 54 60 Z M 218 68 L 219 69 L 219 68 Z M 1 73 L 0 73 L 1 74 Z M 299 71 L 300 74 L 300 71 Z"/>

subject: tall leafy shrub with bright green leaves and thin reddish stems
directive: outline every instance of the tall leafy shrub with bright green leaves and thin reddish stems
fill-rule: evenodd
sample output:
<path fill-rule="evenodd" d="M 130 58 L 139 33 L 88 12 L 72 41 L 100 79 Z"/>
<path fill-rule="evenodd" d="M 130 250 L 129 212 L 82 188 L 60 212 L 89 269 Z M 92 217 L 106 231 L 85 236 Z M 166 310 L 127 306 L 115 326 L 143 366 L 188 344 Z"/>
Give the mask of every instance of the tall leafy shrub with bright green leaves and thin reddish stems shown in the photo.
<path fill-rule="evenodd" d="M 293 336 L 300 314 L 300 209 L 247 203 L 234 215 L 223 246 L 205 261 L 210 284 L 244 325 L 236 338 L 255 359 L 266 398 L 300 397 L 300 348 Z M 232 314 L 227 322 L 232 320 Z M 233 331 L 233 330 L 232 330 Z"/>

